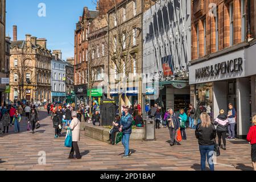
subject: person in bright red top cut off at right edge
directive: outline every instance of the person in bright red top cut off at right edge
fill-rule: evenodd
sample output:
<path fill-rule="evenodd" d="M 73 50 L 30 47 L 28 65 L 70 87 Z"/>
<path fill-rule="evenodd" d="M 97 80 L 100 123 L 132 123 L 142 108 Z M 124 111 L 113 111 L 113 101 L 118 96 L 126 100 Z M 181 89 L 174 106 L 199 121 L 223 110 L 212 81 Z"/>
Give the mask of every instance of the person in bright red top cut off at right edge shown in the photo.
<path fill-rule="evenodd" d="M 251 144 L 251 161 L 253 162 L 254 171 L 256 171 L 256 115 L 252 119 L 253 126 L 250 127 L 247 134 L 247 141 Z"/>

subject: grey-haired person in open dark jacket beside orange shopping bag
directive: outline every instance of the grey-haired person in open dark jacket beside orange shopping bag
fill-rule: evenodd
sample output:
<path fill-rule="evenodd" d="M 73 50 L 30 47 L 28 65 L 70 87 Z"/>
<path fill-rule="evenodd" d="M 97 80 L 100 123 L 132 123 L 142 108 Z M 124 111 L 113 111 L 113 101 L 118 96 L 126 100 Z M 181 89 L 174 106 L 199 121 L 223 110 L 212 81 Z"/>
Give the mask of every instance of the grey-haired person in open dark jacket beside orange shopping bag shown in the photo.
<path fill-rule="evenodd" d="M 180 130 L 180 122 L 179 122 L 179 115 L 175 114 L 172 109 L 169 110 L 169 115 L 167 117 L 168 121 L 168 129 L 170 131 L 170 146 L 174 146 L 175 144 L 180 145 L 179 142 L 175 140 L 177 130 Z"/>

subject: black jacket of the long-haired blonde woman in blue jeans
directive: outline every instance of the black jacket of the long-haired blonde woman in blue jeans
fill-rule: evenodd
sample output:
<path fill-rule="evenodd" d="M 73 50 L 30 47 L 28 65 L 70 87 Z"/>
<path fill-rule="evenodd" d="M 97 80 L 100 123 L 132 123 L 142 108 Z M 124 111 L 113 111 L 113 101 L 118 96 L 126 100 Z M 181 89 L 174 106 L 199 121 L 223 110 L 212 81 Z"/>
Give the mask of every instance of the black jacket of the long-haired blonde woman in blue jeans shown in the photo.
<path fill-rule="evenodd" d="M 202 127 L 201 123 L 196 126 L 196 138 L 200 146 L 212 146 L 215 144 L 216 130 L 212 123 L 209 127 Z"/>

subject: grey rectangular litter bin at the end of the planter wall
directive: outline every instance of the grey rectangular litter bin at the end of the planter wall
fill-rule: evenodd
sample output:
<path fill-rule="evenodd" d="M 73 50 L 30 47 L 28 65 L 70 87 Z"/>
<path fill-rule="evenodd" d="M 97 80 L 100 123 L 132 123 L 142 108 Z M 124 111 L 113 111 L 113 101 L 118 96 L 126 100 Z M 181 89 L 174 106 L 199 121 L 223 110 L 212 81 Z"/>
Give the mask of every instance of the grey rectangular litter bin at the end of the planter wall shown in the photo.
<path fill-rule="evenodd" d="M 144 119 L 144 140 L 155 140 L 155 121 L 154 119 Z"/>

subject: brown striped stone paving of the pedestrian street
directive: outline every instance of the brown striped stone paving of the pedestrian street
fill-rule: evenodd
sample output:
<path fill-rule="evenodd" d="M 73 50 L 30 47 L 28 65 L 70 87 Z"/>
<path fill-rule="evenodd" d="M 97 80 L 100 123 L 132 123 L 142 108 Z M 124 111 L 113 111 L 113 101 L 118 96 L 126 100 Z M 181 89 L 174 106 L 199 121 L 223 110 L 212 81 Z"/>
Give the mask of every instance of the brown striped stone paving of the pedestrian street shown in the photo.
<path fill-rule="evenodd" d="M 0 170 L 157 170 L 183 171 L 200 170 L 200 153 L 195 130 L 187 130 L 188 140 L 181 146 L 170 147 L 168 129 L 156 131 L 156 141 L 131 141 L 133 154 L 122 159 L 123 147 L 110 146 L 86 137 L 79 142 L 81 160 L 67 159 L 70 148 L 64 147 L 64 137 L 54 139 L 52 122 L 46 111 L 40 111 L 42 127 L 33 135 L 27 131 L 27 122 L 22 119 L 21 132 L 0 138 Z M 64 135 L 64 134 L 63 134 Z M 46 152 L 46 164 L 38 164 L 39 152 Z M 227 143 L 221 150 L 216 170 L 253 170 L 250 145 L 245 140 Z"/>

